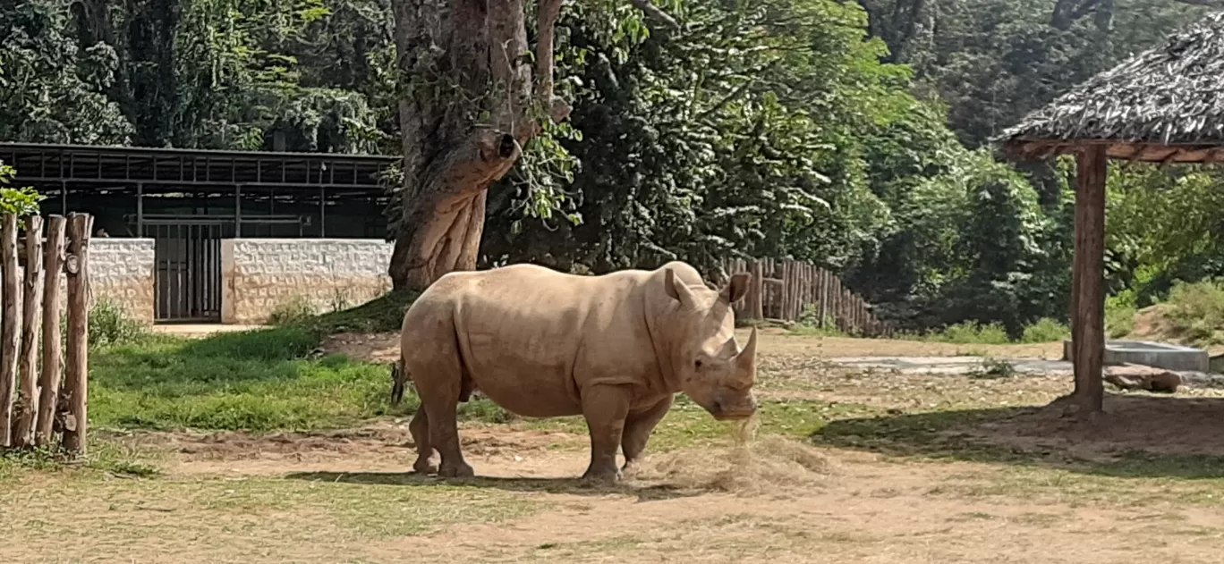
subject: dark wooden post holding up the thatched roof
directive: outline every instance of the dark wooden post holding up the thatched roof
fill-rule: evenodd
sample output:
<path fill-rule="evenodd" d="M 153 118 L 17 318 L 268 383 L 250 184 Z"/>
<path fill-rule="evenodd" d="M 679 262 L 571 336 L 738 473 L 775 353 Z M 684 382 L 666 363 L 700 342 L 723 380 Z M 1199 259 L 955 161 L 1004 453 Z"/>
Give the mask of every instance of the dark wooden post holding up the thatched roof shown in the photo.
<path fill-rule="evenodd" d="M 1081 417 L 1104 407 L 1105 358 L 1105 174 L 1104 146 L 1089 146 L 1076 159 L 1075 263 L 1071 339 L 1075 403 Z"/>

